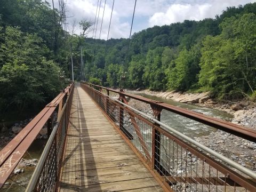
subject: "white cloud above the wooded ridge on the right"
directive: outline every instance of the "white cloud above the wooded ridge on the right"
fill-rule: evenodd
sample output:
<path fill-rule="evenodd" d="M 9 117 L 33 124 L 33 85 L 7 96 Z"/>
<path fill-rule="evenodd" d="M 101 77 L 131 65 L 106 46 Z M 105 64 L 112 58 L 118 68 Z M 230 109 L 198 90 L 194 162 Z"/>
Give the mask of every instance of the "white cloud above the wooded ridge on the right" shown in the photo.
<path fill-rule="evenodd" d="M 250 0 L 234 1 L 207 1 L 204 3 L 174 3 L 171 4 L 165 12 L 155 12 L 148 21 L 148 25 L 153 27 L 155 25 L 170 25 L 174 22 L 182 22 L 184 20 L 202 20 L 204 18 L 214 18 L 215 15 L 221 14 L 228 6 L 237 6 L 239 4 L 246 4 Z"/>

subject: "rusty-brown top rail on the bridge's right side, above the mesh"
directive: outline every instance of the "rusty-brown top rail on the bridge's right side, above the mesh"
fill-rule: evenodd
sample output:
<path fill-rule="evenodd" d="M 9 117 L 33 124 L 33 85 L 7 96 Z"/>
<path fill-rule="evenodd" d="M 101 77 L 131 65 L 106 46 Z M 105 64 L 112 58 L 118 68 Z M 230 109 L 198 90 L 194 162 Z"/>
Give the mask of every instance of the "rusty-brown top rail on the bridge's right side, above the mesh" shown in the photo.
<path fill-rule="evenodd" d="M 99 90 L 103 89 L 103 90 L 106 90 L 107 92 L 111 91 L 111 92 L 117 93 L 119 95 L 123 95 L 123 96 L 129 97 L 129 98 L 132 98 L 132 99 L 135 99 L 135 100 L 138 100 L 138 101 L 148 103 L 151 106 L 156 106 L 159 110 L 165 109 L 165 110 L 171 111 L 175 114 L 193 119 L 197 122 L 201 122 L 205 125 L 212 126 L 216 129 L 225 131 L 227 133 L 236 135 L 238 137 L 241 137 L 243 139 L 246 139 L 246 140 L 249 140 L 249 141 L 252 141 L 252 142 L 256 141 L 256 131 L 253 130 L 253 129 L 249 129 L 247 127 L 241 126 L 241 125 L 237 125 L 237 124 L 234 124 L 234 123 L 223 121 L 222 119 L 219 119 L 219 118 L 214 118 L 214 117 L 211 117 L 211 116 L 208 116 L 208 115 L 197 113 L 196 111 L 191 111 L 191 110 L 184 109 L 184 108 L 181 108 L 181 107 L 172 106 L 168 103 L 151 100 L 151 99 L 148 99 L 148 98 L 145 98 L 145 97 L 141 97 L 140 95 L 125 93 L 125 92 L 110 89 L 110 88 L 107 88 L 107 87 L 87 83 L 87 82 L 84 82 L 84 84 L 87 84 L 87 85 L 92 86 L 94 88 L 98 87 Z"/>

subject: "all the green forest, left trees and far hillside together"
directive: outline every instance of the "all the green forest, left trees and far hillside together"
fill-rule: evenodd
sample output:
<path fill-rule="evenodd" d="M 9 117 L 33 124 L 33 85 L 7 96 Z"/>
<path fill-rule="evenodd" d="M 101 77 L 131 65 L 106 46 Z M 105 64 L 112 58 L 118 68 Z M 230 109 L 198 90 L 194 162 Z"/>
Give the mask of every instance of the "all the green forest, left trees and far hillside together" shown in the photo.
<path fill-rule="evenodd" d="M 74 34 L 72 29 L 68 32 L 65 4 L 61 8 L 53 12 L 41 0 L 0 1 L 2 118 L 13 111 L 38 110 L 57 95 L 65 86 L 60 71 L 71 77 L 71 43 L 78 52 L 83 47 L 87 81 L 118 87 L 121 73 L 127 71 L 125 88 L 129 89 L 211 91 L 220 99 L 255 98 L 256 3 L 228 7 L 215 19 L 185 20 L 135 33 L 126 63 L 129 39 L 106 42 L 86 33 Z M 79 24 L 87 30 L 92 23 Z M 74 72 L 80 81 L 79 57 L 74 57 Z"/>

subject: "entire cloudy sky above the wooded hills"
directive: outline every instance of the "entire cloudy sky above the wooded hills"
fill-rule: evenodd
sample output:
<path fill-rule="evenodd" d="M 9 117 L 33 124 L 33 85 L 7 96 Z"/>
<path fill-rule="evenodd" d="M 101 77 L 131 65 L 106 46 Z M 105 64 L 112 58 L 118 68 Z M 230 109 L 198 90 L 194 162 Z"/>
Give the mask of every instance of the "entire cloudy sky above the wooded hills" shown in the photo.
<path fill-rule="evenodd" d="M 52 1 L 47 0 L 51 5 Z M 54 0 L 54 6 L 58 8 L 58 1 Z M 82 19 L 94 22 L 97 11 L 98 0 L 64 0 L 66 1 L 68 28 Z M 101 4 L 100 4 L 101 1 Z M 106 1 L 104 17 L 102 15 Z M 215 18 L 215 15 L 221 14 L 228 6 L 244 5 L 246 3 L 254 3 L 256 0 L 137 0 L 132 34 L 142 29 L 154 26 L 170 25 L 174 22 L 182 22 L 183 20 L 202 20 L 205 18 Z M 109 38 L 127 38 L 130 35 L 132 14 L 135 0 L 115 0 Z M 113 0 L 99 0 L 100 11 L 98 7 L 99 20 L 97 26 L 97 18 L 95 27 L 97 33 L 95 38 L 107 39 L 108 27 L 111 15 Z M 100 35 L 102 21 L 102 29 Z M 93 28 L 93 27 L 92 27 Z M 76 26 L 76 34 L 81 33 L 79 25 Z M 93 33 L 89 33 L 88 37 L 92 37 Z M 94 37 L 93 37 L 94 38 Z"/>

